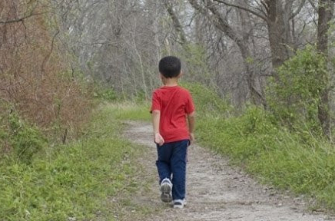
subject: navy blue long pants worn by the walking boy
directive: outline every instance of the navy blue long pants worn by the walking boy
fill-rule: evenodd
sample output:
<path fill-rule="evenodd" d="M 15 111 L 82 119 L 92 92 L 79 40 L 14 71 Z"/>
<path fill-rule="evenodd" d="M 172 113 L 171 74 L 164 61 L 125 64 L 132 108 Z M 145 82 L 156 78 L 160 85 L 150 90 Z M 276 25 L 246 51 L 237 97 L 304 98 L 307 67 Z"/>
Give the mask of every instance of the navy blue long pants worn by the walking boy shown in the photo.
<path fill-rule="evenodd" d="M 157 145 L 158 159 L 156 166 L 159 183 L 164 178 L 169 178 L 172 181 L 173 200 L 185 199 L 186 161 L 189 142 L 189 140 L 181 140 L 164 143 L 162 146 Z"/>

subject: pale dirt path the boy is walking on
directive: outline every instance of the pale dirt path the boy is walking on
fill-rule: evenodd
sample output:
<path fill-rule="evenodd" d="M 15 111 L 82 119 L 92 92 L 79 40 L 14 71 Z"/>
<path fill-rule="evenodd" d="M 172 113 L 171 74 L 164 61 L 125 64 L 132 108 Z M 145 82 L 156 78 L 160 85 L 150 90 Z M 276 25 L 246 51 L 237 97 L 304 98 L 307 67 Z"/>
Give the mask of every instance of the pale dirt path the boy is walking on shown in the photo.
<path fill-rule="evenodd" d="M 156 213 L 138 218 L 146 221 L 324 221 L 335 220 L 323 214 L 304 211 L 301 199 L 279 195 L 259 185 L 244 172 L 228 166 L 226 159 L 197 145 L 189 149 L 187 206 L 176 210 L 160 202 L 156 149 L 148 123 L 127 122 L 127 139 L 144 145 L 140 160 L 146 170 L 143 179 L 152 180 L 147 191 L 134 197 L 138 204 L 155 207 Z"/>

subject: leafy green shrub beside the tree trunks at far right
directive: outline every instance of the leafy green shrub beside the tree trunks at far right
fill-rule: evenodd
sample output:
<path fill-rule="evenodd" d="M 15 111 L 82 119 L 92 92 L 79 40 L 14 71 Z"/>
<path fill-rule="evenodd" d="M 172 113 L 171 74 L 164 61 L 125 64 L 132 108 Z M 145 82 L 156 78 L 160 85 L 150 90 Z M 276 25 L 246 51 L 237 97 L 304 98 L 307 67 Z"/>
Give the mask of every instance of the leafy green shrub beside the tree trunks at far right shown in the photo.
<path fill-rule="evenodd" d="M 328 86 L 324 56 L 308 46 L 298 50 L 269 80 L 267 102 L 274 116 L 291 128 L 311 129 L 320 134 L 320 93 Z"/>

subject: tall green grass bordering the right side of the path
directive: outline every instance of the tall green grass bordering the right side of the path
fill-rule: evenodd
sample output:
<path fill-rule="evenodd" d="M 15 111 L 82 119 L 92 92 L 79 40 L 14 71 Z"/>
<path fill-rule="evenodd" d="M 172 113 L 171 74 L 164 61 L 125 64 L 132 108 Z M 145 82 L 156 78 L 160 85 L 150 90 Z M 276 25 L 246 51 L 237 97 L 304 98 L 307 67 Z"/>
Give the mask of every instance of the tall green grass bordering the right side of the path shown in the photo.
<path fill-rule="evenodd" d="M 335 149 L 328 141 L 289 132 L 254 107 L 240 117 L 200 118 L 196 135 L 263 183 L 315 198 L 314 209 L 335 211 Z"/>

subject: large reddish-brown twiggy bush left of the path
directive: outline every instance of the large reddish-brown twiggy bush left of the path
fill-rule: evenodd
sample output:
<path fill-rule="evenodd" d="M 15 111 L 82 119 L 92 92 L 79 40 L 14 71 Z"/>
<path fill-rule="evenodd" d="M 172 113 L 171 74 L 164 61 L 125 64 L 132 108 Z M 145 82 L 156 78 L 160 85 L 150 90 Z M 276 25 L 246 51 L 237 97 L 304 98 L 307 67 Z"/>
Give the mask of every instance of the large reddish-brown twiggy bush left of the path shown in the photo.
<path fill-rule="evenodd" d="M 0 47 L 0 97 L 24 120 L 60 137 L 87 120 L 90 95 L 82 76 L 72 69 L 71 55 L 53 37 L 51 29 L 57 25 L 42 2 L 13 0 L 1 9 L 0 20 L 24 17 L 29 8 L 38 13 L 24 25 L 0 24 L 6 30 Z"/>

